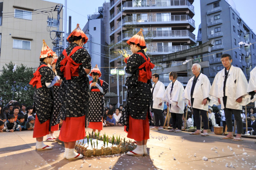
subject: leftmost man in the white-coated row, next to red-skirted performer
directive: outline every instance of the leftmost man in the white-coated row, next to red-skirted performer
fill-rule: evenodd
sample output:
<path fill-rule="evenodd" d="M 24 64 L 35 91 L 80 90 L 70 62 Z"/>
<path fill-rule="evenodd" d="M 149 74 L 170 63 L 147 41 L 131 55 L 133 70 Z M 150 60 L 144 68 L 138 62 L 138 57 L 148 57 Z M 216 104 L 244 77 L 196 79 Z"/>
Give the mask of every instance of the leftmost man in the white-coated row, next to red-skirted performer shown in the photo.
<path fill-rule="evenodd" d="M 165 123 L 165 116 L 163 113 L 164 101 L 161 99 L 165 93 L 165 85 L 159 81 L 159 75 L 157 73 L 152 75 L 152 81 L 155 83 L 151 89 L 152 93 L 152 103 L 151 109 L 154 112 L 155 116 L 155 127 L 152 127 L 151 130 L 163 130 Z M 159 124 L 160 121 L 160 124 Z"/>

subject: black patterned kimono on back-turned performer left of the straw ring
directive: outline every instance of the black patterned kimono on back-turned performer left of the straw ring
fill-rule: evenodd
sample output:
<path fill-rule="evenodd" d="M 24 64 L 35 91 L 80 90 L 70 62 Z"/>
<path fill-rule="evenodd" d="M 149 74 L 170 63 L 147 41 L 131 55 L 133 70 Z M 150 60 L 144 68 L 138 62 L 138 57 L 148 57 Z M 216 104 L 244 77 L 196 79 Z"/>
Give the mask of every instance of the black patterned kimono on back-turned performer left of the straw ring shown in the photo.
<path fill-rule="evenodd" d="M 67 55 L 74 47 L 78 46 L 76 43 L 71 43 L 67 47 Z M 91 69 L 91 57 L 87 50 L 82 48 L 78 49 L 71 58 L 79 65 L 79 76 L 73 76 L 70 80 L 64 78 L 64 74 L 61 72 L 61 61 L 64 59 L 64 55 L 61 54 L 58 57 L 55 69 L 58 76 L 61 76 L 61 112 L 63 118 L 66 117 L 81 117 L 88 112 L 88 102 L 90 100 L 89 95 L 89 79 L 86 75 L 85 69 Z M 83 68 L 84 67 L 84 68 Z"/>

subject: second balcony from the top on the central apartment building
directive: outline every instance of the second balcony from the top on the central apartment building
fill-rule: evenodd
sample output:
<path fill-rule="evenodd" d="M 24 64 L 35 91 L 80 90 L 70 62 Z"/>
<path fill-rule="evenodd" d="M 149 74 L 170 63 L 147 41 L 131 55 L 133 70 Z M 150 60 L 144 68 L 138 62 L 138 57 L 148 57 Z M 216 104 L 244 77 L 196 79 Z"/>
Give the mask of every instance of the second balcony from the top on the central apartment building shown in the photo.
<path fill-rule="evenodd" d="M 142 17 L 132 17 L 126 16 L 123 18 L 122 23 L 127 22 L 138 22 L 143 24 L 143 22 L 178 22 L 178 21 L 189 21 L 193 26 L 195 26 L 195 21 L 189 15 L 162 15 L 162 16 L 142 16 Z"/>

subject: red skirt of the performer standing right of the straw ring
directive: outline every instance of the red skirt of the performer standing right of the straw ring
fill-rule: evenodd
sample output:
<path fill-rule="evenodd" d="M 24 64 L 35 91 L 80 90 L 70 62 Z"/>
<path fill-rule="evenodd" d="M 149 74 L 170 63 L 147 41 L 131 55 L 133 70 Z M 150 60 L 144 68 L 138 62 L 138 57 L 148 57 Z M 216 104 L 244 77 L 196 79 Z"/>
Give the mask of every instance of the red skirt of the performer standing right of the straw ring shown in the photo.
<path fill-rule="evenodd" d="M 134 119 L 129 117 L 129 131 L 128 138 L 136 141 L 143 141 L 149 139 L 149 118 L 146 116 L 145 120 Z"/>

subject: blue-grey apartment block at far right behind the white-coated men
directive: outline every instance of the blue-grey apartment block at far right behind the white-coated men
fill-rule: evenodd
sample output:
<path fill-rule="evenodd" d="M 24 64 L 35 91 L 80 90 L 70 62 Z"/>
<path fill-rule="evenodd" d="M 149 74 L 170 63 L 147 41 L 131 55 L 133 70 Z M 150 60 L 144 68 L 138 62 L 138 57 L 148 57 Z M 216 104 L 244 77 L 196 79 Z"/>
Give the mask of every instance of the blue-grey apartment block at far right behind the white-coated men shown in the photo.
<path fill-rule="evenodd" d="M 232 0 L 201 0 L 202 43 L 215 40 L 211 52 L 203 55 L 210 67 L 204 68 L 210 82 L 224 67 L 220 56 L 225 52 L 232 56 L 232 65 L 240 67 L 247 79 L 256 66 L 256 36 L 235 9 Z"/>

